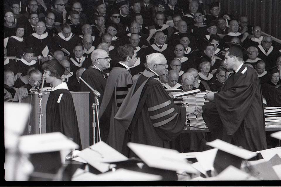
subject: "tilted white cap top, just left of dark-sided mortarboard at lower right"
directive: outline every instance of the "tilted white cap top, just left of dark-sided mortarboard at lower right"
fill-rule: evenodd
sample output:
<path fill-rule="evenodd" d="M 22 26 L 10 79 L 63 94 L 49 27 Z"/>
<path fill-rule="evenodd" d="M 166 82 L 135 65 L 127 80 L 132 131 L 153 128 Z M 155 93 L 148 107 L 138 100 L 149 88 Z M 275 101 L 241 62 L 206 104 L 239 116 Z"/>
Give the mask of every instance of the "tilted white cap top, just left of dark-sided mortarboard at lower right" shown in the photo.
<path fill-rule="evenodd" d="M 210 149 L 202 151 L 200 154 L 196 155 L 197 161 L 200 163 L 201 167 L 205 170 L 213 170 L 214 160 L 218 149 Z"/>

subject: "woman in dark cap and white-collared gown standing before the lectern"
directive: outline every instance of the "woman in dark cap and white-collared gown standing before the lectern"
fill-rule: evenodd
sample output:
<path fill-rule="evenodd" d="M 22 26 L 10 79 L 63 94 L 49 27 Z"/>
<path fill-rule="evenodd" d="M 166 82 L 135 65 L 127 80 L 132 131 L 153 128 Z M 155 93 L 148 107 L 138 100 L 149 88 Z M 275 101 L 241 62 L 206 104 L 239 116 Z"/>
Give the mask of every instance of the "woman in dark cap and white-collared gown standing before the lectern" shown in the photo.
<path fill-rule="evenodd" d="M 46 106 L 46 133 L 61 132 L 73 139 L 81 148 L 80 133 L 72 95 L 61 81 L 64 67 L 53 59 L 42 65 L 46 83 L 52 85 Z M 43 84 L 43 83 L 42 83 Z"/>

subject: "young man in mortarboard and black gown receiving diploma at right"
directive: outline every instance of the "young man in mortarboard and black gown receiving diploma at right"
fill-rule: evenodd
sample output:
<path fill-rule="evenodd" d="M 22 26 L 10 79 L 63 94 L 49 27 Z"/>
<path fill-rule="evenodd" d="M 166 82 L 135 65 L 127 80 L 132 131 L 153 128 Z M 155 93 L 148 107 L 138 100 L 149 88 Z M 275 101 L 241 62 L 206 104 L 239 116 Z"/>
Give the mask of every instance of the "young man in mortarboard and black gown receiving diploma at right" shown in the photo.
<path fill-rule="evenodd" d="M 212 138 L 221 139 L 250 151 L 266 149 L 263 96 L 258 75 L 243 64 L 249 54 L 239 44 L 228 43 L 225 67 L 235 71 L 219 93 L 211 91 L 204 97 L 211 102 L 203 105 L 203 119 Z"/>

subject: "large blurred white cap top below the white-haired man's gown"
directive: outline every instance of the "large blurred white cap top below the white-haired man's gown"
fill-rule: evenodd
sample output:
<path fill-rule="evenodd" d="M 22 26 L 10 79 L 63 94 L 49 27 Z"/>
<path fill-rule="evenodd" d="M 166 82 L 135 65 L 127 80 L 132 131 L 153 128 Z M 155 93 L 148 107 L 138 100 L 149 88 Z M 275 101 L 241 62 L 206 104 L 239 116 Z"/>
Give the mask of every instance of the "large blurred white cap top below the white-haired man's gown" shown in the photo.
<path fill-rule="evenodd" d="M 191 164 L 187 163 L 187 160 L 177 158 L 177 155 L 179 154 L 177 150 L 131 142 L 127 145 L 149 167 L 171 171 L 185 171 L 194 174 L 197 173 L 197 170 L 192 167 Z"/>

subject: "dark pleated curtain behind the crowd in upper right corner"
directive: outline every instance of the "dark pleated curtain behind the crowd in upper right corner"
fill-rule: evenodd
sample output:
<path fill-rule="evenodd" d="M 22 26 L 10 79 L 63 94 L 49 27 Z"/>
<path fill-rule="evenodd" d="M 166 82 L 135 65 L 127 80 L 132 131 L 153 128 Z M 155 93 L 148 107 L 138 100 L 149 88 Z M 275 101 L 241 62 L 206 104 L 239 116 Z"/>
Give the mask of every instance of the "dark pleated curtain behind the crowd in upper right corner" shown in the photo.
<path fill-rule="evenodd" d="M 220 2 L 222 13 L 237 18 L 240 14 L 247 15 L 250 25 L 259 25 L 263 32 L 281 39 L 281 0 L 203 0 L 207 13 L 208 4 L 213 2 Z"/>

